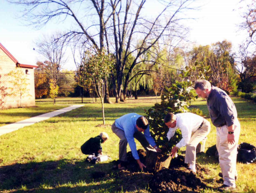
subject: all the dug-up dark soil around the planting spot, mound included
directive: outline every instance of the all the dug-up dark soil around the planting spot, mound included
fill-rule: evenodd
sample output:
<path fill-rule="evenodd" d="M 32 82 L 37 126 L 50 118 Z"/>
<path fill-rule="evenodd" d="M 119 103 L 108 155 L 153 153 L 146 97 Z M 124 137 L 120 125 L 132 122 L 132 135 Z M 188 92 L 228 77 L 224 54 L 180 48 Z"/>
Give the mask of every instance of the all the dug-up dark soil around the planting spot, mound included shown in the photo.
<path fill-rule="evenodd" d="M 145 164 L 146 154 L 143 150 L 137 150 L 140 160 Z M 152 193 L 170 193 L 170 192 L 200 192 L 207 186 L 204 184 L 204 174 L 208 169 L 196 164 L 197 175 L 188 169 L 188 164 L 184 163 L 184 156 L 178 156 L 171 160 L 169 169 L 163 169 L 154 174 L 139 172 L 139 165 L 133 158 L 131 151 L 127 153 L 127 170 L 120 171 L 116 176 L 118 180 L 125 182 L 127 187 L 124 190 L 132 190 L 130 185 L 141 186 L 148 182 Z M 140 177 L 139 177 L 140 176 Z M 197 177 L 198 176 L 198 177 Z"/>

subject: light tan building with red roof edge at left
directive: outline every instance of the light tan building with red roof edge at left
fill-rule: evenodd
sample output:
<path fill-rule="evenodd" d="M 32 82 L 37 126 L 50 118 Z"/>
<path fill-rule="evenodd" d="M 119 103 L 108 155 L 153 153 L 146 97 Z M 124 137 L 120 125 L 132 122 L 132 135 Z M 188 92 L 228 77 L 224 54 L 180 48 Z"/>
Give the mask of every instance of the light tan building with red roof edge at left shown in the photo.
<path fill-rule="evenodd" d="M 27 85 L 27 90 L 23 95 L 14 84 L 18 79 L 14 80 L 8 75 L 18 67 L 24 73 L 22 76 L 26 78 L 24 85 Z M 37 68 L 37 65 L 19 63 L 0 43 L 0 109 L 35 106 L 34 68 Z M 13 93 L 13 91 L 17 93 Z"/>

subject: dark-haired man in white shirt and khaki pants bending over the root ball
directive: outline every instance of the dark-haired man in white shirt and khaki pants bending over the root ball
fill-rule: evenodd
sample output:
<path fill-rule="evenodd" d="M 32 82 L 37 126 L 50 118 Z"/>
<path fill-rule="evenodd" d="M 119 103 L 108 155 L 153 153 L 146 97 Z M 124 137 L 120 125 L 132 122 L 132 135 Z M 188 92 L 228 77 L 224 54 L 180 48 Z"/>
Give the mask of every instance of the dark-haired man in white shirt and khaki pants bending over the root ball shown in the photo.
<path fill-rule="evenodd" d="M 175 131 L 180 128 L 182 139 L 171 150 L 172 157 L 175 156 L 177 150 L 186 145 L 185 163 L 189 164 L 189 168 L 196 172 L 196 146 L 210 133 L 210 123 L 203 117 L 193 113 L 168 113 L 164 119 L 165 125 L 169 131 L 167 138 L 170 140 Z M 191 136 L 192 135 L 192 136 Z"/>

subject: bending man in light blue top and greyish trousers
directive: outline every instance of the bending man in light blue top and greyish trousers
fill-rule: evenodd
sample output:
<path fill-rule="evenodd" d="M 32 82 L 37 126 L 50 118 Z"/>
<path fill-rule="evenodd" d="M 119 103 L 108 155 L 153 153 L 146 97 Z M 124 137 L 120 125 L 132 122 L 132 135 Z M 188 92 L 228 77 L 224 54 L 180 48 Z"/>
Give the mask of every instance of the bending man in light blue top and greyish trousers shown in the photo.
<path fill-rule="evenodd" d="M 140 161 L 134 138 L 140 141 L 145 150 L 147 150 L 147 148 L 152 149 L 153 147 L 157 152 L 161 152 L 161 149 L 157 147 L 154 139 L 150 135 L 149 122 L 144 116 L 138 115 L 136 113 L 129 113 L 121 116 L 119 119 L 115 120 L 114 124 L 112 125 L 112 131 L 120 138 L 118 164 L 118 168 L 120 170 L 124 169 L 124 166 L 127 162 L 127 143 L 129 143 L 132 156 L 134 156 L 134 159 L 139 164 L 140 169 L 146 167 Z"/>

